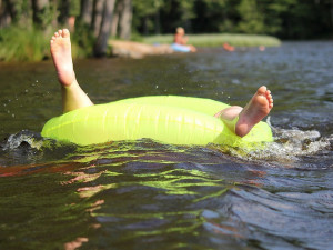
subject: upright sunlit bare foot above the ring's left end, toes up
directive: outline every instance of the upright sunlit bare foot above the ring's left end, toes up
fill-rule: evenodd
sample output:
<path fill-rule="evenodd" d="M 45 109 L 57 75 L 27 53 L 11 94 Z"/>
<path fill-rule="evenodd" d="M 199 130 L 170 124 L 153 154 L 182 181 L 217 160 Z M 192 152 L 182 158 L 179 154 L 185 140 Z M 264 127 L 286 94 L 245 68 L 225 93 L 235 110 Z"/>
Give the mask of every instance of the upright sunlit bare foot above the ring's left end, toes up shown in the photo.
<path fill-rule="evenodd" d="M 75 81 L 75 73 L 69 30 L 63 29 L 56 32 L 50 41 L 50 47 L 60 83 L 64 87 L 70 86 Z"/>

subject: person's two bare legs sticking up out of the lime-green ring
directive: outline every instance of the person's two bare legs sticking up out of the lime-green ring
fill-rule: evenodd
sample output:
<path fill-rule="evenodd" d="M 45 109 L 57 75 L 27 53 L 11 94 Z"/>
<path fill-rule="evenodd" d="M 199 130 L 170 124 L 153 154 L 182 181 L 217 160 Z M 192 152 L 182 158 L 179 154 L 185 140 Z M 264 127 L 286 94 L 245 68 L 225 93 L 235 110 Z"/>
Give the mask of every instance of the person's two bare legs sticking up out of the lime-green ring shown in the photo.
<path fill-rule="evenodd" d="M 69 30 L 57 31 L 50 40 L 50 47 L 58 80 L 61 84 L 63 112 L 93 106 L 75 78 Z M 244 108 L 232 106 L 219 111 L 214 117 L 222 119 L 236 136 L 244 137 L 253 126 L 270 113 L 272 108 L 271 91 L 262 86 Z"/>

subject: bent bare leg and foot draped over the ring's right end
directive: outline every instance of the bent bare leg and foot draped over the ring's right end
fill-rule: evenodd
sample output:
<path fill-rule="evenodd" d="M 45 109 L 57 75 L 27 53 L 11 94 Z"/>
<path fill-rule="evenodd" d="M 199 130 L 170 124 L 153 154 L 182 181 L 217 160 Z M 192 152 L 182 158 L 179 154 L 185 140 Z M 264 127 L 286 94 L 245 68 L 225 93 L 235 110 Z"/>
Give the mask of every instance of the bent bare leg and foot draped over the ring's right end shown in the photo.
<path fill-rule="evenodd" d="M 221 118 L 235 134 L 244 137 L 251 131 L 253 126 L 270 113 L 272 108 L 273 98 L 271 91 L 265 86 L 262 86 L 243 109 L 232 106 L 221 110 L 214 117 Z"/>

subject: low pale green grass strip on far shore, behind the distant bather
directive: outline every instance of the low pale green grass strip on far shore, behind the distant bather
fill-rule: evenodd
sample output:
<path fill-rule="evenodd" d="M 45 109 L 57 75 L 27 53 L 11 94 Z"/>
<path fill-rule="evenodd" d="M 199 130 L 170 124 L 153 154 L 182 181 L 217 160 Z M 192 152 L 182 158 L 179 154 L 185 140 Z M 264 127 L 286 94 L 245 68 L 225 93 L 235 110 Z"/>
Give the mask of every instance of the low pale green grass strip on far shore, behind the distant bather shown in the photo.
<path fill-rule="evenodd" d="M 278 38 L 260 34 L 231 34 L 231 33 L 214 33 L 214 34 L 189 34 L 189 44 L 195 47 L 221 47 L 224 42 L 235 47 L 278 47 L 281 41 Z M 172 43 L 172 34 L 150 36 L 144 37 L 144 43 Z"/>

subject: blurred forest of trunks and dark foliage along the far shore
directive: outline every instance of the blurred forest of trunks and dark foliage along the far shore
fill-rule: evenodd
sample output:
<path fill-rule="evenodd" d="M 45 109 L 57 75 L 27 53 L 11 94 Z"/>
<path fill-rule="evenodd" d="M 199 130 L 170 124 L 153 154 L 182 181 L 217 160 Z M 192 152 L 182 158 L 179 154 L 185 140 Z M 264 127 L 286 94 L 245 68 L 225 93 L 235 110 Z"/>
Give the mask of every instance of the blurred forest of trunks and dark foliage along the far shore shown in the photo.
<path fill-rule="evenodd" d="M 0 60 L 42 60 L 50 36 L 75 20 L 77 54 L 104 56 L 110 38 L 174 33 L 333 38 L 333 0 L 0 0 Z"/>

